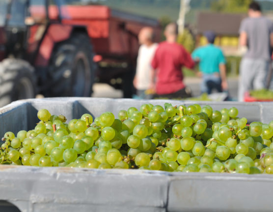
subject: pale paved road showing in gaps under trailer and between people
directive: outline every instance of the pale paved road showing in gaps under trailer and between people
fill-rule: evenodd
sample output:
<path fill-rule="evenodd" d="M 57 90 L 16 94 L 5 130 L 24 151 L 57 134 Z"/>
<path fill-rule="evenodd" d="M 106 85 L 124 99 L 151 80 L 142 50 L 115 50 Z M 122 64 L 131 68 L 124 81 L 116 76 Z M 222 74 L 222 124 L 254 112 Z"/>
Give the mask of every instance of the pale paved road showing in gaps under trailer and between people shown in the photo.
<path fill-rule="evenodd" d="M 186 78 L 185 83 L 192 90 L 193 96 L 198 96 L 200 94 L 200 81 L 199 78 Z M 237 100 L 237 91 L 238 91 L 238 78 L 229 78 L 229 95 L 232 99 Z M 95 83 L 93 86 L 94 93 L 92 97 L 106 97 L 106 98 L 122 98 L 122 91 L 115 90 L 108 84 L 104 83 Z"/>

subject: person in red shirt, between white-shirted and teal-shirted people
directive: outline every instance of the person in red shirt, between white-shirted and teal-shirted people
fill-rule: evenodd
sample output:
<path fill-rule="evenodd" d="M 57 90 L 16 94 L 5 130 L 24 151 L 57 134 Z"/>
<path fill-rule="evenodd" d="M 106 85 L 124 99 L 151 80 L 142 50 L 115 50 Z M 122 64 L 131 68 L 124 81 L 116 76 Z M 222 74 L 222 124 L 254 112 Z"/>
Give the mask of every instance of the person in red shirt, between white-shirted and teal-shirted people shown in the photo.
<path fill-rule="evenodd" d="M 155 89 L 155 98 L 188 98 L 191 90 L 183 83 L 182 67 L 194 67 L 191 54 L 176 43 L 177 25 L 170 23 L 164 30 L 166 41 L 159 44 L 152 60 L 150 89 Z M 156 79 L 156 83 L 155 83 Z"/>

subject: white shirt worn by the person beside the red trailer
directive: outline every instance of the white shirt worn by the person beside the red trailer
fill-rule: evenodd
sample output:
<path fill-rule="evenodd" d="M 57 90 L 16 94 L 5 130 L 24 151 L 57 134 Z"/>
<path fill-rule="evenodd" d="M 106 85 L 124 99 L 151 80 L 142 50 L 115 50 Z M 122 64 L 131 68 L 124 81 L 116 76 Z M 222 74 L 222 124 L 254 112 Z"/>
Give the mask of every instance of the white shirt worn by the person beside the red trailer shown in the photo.
<path fill-rule="evenodd" d="M 139 47 L 136 63 L 136 89 L 146 90 L 150 85 L 151 78 L 151 62 L 156 52 L 158 44 L 154 43 L 151 46 L 142 44 Z"/>

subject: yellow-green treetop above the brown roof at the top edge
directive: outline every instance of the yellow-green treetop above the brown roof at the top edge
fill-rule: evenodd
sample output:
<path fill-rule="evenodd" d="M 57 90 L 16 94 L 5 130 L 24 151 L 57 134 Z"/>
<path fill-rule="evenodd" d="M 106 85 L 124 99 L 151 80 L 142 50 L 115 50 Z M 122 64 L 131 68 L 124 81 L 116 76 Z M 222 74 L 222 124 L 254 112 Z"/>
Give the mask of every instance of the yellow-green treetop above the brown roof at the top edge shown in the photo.
<path fill-rule="evenodd" d="M 211 9 L 216 12 L 246 13 L 252 0 L 215 0 Z"/>

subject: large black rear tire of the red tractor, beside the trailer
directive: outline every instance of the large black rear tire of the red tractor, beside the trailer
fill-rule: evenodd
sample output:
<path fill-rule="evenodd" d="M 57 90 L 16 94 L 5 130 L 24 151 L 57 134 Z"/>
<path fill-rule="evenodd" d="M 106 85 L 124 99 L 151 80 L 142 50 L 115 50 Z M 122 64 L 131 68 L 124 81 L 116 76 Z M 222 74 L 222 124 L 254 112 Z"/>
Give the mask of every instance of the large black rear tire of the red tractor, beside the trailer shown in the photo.
<path fill-rule="evenodd" d="M 96 69 L 93 56 L 90 39 L 84 33 L 72 34 L 59 43 L 49 66 L 49 96 L 90 97 Z"/>

